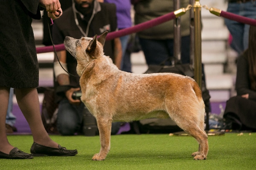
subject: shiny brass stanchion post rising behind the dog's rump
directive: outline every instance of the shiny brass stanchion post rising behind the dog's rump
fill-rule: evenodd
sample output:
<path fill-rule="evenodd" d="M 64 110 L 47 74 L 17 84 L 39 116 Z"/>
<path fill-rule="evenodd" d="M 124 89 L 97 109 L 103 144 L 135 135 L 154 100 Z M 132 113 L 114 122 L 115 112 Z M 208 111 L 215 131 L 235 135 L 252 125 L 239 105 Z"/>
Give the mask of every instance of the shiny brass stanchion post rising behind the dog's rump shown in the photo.
<path fill-rule="evenodd" d="M 195 0 L 194 4 L 195 21 L 195 81 L 202 89 L 202 49 L 201 49 L 201 4 Z"/>

